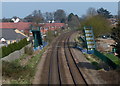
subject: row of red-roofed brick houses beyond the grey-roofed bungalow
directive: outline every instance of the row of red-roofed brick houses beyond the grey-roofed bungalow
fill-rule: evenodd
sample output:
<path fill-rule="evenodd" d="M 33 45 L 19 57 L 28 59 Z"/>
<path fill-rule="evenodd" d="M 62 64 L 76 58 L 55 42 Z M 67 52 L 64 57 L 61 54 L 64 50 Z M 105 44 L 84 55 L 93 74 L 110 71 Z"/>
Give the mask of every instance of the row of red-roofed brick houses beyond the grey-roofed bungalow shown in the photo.
<path fill-rule="evenodd" d="M 0 28 L 16 28 L 26 35 L 32 35 L 31 25 L 35 25 L 32 22 L 2 22 Z M 46 33 L 48 30 L 56 30 L 65 27 L 64 23 L 40 23 L 38 26 L 41 27 L 41 32 Z"/>

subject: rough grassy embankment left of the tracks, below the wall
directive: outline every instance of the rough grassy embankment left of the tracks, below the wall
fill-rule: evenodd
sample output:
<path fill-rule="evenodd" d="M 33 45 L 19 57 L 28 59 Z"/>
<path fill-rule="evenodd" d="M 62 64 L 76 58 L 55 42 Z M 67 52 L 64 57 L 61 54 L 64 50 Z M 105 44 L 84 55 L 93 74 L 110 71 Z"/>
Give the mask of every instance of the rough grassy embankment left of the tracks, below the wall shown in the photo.
<path fill-rule="evenodd" d="M 32 56 L 26 65 L 21 65 L 21 60 L 26 58 L 28 55 L 21 56 L 12 62 L 2 62 L 2 75 L 3 84 L 31 84 L 33 76 L 36 72 L 37 64 L 45 51 L 44 48 L 39 53 Z"/>

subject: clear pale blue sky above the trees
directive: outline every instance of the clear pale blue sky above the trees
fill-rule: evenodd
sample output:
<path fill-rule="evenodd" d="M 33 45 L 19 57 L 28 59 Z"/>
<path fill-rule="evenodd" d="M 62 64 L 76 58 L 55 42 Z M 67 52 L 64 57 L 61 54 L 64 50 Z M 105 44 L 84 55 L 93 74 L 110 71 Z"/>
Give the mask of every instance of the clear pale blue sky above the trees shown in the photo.
<path fill-rule="evenodd" d="M 2 17 L 11 18 L 18 16 L 24 18 L 34 10 L 41 10 L 42 13 L 53 12 L 63 9 L 67 14 L 74 13 L 78 16 L 86 14 L 89 7 L 107 9 L 111 14 L 118 12 L 117 2 L 2 2 Z"/>

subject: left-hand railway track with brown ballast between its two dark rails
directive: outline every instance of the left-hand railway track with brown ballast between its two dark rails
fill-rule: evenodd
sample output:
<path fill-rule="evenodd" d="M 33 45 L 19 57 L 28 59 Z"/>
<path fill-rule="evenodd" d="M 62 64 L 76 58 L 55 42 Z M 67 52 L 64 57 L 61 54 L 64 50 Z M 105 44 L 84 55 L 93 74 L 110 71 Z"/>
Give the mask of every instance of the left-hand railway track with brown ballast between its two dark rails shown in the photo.
<path fill-rule="evenodd" d="M 58 37 L 57 42 L 53 43 L 50 65 L 49 65 L 49 76 L 48 84 L 61 84 L 61 73 L 60 73 L 60 64 L 59 64 L 59 42 L 62 40 L 63 35 Z"/>

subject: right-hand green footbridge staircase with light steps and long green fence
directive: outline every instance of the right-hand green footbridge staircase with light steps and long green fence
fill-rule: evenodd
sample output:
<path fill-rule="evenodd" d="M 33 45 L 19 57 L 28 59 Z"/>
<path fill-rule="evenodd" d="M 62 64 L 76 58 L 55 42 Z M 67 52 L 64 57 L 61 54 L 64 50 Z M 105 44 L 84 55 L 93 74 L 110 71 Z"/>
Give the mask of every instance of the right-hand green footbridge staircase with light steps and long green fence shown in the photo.
<path fill-rule="evenodd" d="M 115 64 L 111 59 L 109 59 L 103 53 L 97 51 L 92 27 L 84 27 L 84 36 L 85 36 L 85 39 L 83 38 L 81 39 L 86 44 L 88 54 L 94 54 L 99 59 L 101 59 L 106 64 L 108 64 L 110 67 L 112 67 L 113 69 L 116 69 L 117 67 L 119 67 L 117 64 Z"/>

